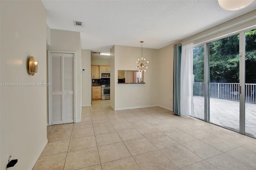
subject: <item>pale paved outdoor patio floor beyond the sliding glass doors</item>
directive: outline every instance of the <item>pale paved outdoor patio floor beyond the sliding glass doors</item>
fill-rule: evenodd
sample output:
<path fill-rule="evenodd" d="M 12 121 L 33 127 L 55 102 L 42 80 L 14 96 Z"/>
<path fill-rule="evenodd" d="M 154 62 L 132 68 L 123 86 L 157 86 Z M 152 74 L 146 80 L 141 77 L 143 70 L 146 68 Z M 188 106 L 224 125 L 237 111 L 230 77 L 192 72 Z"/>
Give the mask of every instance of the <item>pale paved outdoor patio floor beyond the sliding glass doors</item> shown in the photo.
<path fill-rule="evenodd" d="M 204 97 L 193 96 L 194 117 L 204 119 Z M 210 98 L 210 122 L 239 131 L 239 101 Z M 245 103 L 245 132 L 256 138 L 256 104 Z"/>

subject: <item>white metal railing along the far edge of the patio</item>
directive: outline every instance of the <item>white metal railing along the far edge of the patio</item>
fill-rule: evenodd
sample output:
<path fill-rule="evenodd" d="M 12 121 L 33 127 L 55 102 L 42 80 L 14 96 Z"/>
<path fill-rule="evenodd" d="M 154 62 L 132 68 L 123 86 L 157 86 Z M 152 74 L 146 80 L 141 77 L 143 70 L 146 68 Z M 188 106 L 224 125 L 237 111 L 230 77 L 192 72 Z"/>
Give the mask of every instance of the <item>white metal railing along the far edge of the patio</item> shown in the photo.
<path fill-rule="evenodd" d="M 239 83 L 210 83 L 210 97 L 239 101 Z M 193 84 L 193 95 L 204 96 L 204 83 Z M 245 84 L 245 102 L 256 103 L 256 84 Z"/>

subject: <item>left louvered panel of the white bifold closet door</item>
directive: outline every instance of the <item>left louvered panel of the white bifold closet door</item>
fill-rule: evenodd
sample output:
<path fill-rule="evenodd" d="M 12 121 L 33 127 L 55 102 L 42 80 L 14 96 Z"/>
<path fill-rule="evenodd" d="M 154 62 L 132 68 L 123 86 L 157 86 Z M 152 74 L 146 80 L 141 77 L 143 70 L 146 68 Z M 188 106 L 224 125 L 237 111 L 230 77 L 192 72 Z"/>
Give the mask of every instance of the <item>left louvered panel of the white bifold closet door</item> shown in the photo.
<path fill-rule="evenodd" d="M 62 53 L 51 53 L 52 125 L 62 124 Z"/>

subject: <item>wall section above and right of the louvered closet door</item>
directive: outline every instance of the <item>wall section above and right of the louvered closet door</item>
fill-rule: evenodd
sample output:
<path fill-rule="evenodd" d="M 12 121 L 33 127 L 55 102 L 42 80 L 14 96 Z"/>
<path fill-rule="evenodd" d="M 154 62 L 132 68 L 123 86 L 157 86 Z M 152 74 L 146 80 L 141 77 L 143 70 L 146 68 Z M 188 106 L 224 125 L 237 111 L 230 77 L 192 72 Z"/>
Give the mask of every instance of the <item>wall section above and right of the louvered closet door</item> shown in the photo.
<path fill-rule="evenodd" d="M 48 50 L 76 51 L 76 113 L 75 123 L 81 121 L 82 111 L 82 68 L 80 32 L 51 29 L 51 46 Z"/>

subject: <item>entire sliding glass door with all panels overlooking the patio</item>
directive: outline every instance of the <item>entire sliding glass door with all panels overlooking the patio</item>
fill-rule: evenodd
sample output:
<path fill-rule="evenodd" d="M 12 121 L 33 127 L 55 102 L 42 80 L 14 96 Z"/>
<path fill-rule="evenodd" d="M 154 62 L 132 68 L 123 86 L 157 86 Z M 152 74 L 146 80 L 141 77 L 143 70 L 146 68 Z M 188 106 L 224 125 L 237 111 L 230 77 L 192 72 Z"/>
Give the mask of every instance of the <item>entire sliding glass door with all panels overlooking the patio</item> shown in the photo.
<path fill-rule="evenodd" d="M 256 30 L 193 49 L 194 117 L 256 138 Z"/>

